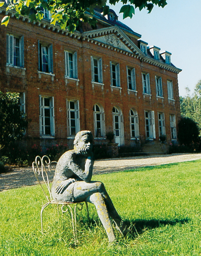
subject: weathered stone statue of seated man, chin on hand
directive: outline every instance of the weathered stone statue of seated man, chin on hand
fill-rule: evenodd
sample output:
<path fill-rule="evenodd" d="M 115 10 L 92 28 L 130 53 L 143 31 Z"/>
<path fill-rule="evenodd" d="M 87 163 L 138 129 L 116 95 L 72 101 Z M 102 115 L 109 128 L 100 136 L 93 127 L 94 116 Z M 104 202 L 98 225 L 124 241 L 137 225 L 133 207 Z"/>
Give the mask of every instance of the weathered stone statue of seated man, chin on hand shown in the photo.
<path fill-rule="evenodd" d="M 52 184 L 52 197 L 62 202 L 86 201 L 95 205 L 110 242 L 115 234 L 111 218 L 116 228 L 123 233 L 124 224 L 117 213 L 102 182 L 91 181 L 93 170 L 92 134 L 90 131 L 77 133 L 74 149 L 65 152 L 59 159 Z M 123 225 L 122 225 L 123 224 Z"/>

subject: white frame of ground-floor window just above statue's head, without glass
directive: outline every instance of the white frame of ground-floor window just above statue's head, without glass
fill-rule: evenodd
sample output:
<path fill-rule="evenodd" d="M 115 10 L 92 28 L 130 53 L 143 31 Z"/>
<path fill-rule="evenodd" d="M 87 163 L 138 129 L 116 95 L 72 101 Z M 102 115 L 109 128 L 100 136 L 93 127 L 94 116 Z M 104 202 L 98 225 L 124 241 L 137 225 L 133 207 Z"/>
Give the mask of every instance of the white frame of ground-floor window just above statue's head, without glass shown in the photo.
<path fill-rule="evenodd" d="M 70 108 L 70 102 L 74 103 L 74 108 Z M 67 136 L 74 138 L 80 131 L 79 121 L 79 100 L 66 99 L 67 106 Z M 74 112 L 74 118 L 71 117 L 71 112 Z M 75 126 L 71 125 L 72 119 L 75 119 Z M 72 128 L 75 127 L 75 134 L 72 133 Z"/>

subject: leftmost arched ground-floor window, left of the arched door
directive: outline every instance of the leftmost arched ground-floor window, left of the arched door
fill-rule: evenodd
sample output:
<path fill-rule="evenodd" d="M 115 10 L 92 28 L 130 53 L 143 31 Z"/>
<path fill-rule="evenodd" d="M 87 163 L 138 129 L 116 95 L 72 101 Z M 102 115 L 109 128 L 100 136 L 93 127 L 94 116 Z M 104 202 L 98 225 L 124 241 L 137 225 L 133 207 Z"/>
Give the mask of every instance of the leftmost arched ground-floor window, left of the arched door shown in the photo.
<path fill-rule="evenodd" d="M 94 136 L 96 138 L 105 137 L 105 116 L 102 106 L 93 106 Z"/>

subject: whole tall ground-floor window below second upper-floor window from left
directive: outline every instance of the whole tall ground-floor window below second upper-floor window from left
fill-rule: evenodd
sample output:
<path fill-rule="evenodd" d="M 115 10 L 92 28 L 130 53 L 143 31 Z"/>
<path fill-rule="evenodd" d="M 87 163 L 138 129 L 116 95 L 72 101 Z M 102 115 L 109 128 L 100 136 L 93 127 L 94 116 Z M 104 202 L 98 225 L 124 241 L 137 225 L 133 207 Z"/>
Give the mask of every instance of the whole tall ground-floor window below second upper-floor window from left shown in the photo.
<path fill-rule="evenodd" d="M 54 97 L 39 96 L 40 136 L 54 136 Z"/>

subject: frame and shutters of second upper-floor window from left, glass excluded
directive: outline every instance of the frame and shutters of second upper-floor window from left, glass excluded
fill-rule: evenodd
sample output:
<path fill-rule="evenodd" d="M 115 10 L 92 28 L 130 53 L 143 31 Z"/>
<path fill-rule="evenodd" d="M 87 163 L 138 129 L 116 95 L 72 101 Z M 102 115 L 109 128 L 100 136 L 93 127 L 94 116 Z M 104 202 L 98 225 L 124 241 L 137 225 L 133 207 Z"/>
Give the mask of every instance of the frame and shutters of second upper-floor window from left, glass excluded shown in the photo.
<path fill-rule="evenodd" d="M 48 61 L 47 61 L 47 66 L 48 66 L 48 72 L 47 70 L 43 69 L 43 47 L 46 47 L 48 49 Z M 52 44 L 44 44 L 41 43 L 38 40 L 38 70 L 39 72 L 42 73 L 47 73 L 47 74 L 53 74 L 53 46 Z"/>

